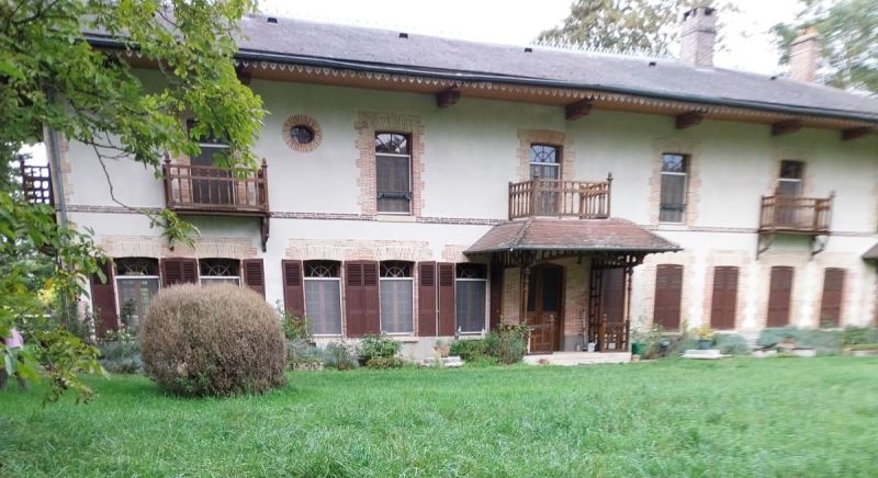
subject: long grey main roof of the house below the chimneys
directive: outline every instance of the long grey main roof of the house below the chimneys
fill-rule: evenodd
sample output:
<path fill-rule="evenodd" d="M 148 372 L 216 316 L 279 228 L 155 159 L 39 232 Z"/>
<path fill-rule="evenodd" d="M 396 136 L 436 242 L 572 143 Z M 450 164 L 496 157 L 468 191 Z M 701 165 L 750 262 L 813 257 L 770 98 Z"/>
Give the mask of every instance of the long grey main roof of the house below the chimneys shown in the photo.
<path fill-rule="evenodd" d="M 323 59 L 340 68 L 443 75 L 485 81 L 552 81 L 560 87 L 639 91 L 656 98 L 736 102 L 754 107 L 798 107 L 878 122 L 878 100 L 787 78 L 696 67 L 675 59 L 474 43 L 399 32 L 248 15 L 241 21 L 241 54 L 269 54 L 280 61 Z M 285 58 L 285 59 L 284 59 Z M 654 66 L 651 66 L 653 62 Z"/>

